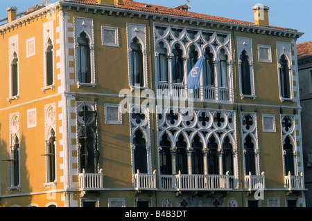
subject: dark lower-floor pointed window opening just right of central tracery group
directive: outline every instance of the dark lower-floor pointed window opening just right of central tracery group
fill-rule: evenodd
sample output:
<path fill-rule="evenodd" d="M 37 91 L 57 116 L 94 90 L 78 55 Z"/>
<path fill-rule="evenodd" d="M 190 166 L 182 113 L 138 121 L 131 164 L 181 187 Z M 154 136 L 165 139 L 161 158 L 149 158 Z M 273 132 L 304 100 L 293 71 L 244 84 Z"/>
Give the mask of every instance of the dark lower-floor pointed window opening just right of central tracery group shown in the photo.
<path fill-rule="evenodd" d="M 256 157 L 254 155 L 254 142 L 251 135 L 247 135 L 244 140 L 244 152 L 245 152 L 245 175 L 257 175 L 256 171 Z"/>

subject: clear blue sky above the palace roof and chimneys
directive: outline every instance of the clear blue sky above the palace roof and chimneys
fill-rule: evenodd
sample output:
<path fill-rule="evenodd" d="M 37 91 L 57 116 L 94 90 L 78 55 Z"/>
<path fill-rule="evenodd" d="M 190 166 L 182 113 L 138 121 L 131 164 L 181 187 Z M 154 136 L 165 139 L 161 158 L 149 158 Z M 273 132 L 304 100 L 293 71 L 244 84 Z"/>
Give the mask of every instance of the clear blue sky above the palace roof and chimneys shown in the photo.
<path fill-rule="evenodd" d="M 42 3 L 44 0 L 0 0 L 0 19 L 7 17 L 6 8 L 16 6 L 18 12 Z M 58 0 L 50 0 L 55 3 Z M 158 6 L 175 8 L 187 0 L 135 0 Z M 191 12 L 206 15 L 254 21 L 252 6 L 262 3 L 269 6 L 269 20 L 271 26 L 294 28 L 305 34 L 297 39 L 297 43 L 312 41 L 312 0 L 190 0 Z"/>

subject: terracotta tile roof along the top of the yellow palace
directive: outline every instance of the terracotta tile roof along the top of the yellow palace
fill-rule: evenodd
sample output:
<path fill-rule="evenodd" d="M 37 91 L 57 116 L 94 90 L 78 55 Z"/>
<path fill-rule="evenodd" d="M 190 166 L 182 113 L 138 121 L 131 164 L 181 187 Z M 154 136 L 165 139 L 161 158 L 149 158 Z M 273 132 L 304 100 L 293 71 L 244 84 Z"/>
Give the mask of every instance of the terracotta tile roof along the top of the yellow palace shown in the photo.
<path fill-rule="evenodd" d="M 74 3 L 85 3 L 85 4 L 90 4 L 90 5 L 98 5 L 96 0 L 68 0 L 69 2 L 74 2 Z M 128 10 L 137 10 L 137 11 L 142 11 L 142 12 L 153 12 L 157 14 L 164 14 L 164 15 L 176 15 L 176 16 L 182 16 L 182 17 L 190 17 L 190 18 L 195 18 L 195 19 L 207 19 L 210 21 L 221 21 L 221 22 L 226 22 L 226 23 L 236 23 L 236 24 L 243 24 L 247 26 L 257 26 L 255 23 L 248 22 L 248 21 L 241 21 L 241 20 L 236 20 L 236 19 L 227 19 L 224 17 L 216 17 L 216 16 L 211 16 L 211 15 L 205 15 L 205 14 L 200 14 L 196 12 L 189 12 L 187 10 L 180 10 L 177 8 L 168 8 L 164 6 L 155 6 L 151 4 L 146 4 L 146 3 L 139 3 L 136 1 L 128 1 L 128 0 L 123 0 L 123 4 L 121 5 L 116 5 L 116 8 L 123 8 L 123 9 L 128 9 Z M 290 28 L 279 28 L 275 26 L 270 26 L 270 28 L 278 28 L 282 30 L 291 30 L 291 31 L 297 31 L 295 29 L 290 29 Z"/>

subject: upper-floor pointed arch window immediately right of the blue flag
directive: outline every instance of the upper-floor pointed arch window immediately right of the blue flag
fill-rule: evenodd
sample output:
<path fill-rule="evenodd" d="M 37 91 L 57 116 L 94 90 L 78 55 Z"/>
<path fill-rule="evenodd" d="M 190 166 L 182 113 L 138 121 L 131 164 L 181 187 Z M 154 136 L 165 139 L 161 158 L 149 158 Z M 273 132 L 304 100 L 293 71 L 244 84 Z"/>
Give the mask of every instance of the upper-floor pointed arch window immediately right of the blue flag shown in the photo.
<path fill-rule="evenodd" d="M 209 47 L 205 50 L 204 59 L 202 64 L 203 84 L 204 86 L 214 86 L 214 55 L 210 52 Z"/>

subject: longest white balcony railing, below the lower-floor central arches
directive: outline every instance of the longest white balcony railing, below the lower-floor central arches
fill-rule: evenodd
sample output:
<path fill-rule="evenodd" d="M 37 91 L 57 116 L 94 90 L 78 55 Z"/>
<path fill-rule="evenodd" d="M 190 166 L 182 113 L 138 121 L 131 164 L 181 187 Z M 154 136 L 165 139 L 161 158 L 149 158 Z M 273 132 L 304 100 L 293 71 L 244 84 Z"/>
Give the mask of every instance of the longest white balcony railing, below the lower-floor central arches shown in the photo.
<path fill-rule="evenodd" d="M 177 191 L 234 189 L 233 175 L 181 174 L 161 175 L 160 188 Z"/>

